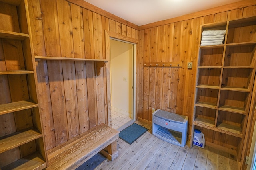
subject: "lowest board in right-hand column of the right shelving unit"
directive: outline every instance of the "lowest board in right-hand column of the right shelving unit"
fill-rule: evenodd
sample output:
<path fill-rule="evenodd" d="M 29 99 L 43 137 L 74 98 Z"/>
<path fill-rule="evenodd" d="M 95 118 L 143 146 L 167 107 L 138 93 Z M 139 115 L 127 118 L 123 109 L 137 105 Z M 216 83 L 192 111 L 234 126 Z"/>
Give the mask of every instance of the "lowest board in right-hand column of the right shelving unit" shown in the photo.
<path fill-rule="evenodd" d="M 242 134 L 242 129 L 241 127 L 238 126 L 234 126 L 234 125 L 229 125 L 226 123 L 217 123 L 217 129 L 219 129 L 220 132 L 232 135 L 232 136 L 236 136 L 236 137 L 243 137 Z"/>

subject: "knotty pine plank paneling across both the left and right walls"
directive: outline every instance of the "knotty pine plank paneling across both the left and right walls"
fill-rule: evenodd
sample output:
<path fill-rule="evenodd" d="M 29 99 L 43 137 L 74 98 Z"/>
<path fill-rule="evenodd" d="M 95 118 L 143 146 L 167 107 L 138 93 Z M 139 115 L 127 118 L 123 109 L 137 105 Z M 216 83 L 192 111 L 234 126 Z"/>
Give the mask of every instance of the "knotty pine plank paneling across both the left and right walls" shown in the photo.
<path fill-rule="evenodd" d="M 106 59 L 105 30 L 138 39 L 136 117 L 152 121 L 152 108 L 189 117 L 194 102 L 199 26 L 252 16 L 255 6 L 138 27 L 82 0 L 28 0 L 34 55 Z M 252 3 L 252 0 L 249 0 Z M 255 4 L 255 2 L 254 2 Z M 209 12 L 210 11 L 210 12 Z M 211 13 L 209 15 L 209 13 Z M 182 61 L 182 68 L 149 68 L 144 62 Z M 192 69 L 187 63 L 192 62 Z M 108 123 L 107 74 L 94 74 L 88 61 L 37 63 L 39 108 L 46 150 L 99 123 Z"/>

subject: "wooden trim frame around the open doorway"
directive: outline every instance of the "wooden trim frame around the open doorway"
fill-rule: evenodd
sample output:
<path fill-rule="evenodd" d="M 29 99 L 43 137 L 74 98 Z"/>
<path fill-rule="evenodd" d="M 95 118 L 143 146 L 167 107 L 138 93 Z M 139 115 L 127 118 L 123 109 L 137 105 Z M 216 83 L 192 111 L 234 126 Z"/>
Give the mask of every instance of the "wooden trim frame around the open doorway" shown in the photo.
<path fill-rule="evenodd" d="M 137 114 L 136 113 L 136 104 L 137 104 L 137 78 L 136 78 L 136 65 L 137 65 L 137 49 L 138 49 L 138 40 L 137 39 L 134 39 L 134 38 L 131 38 L 131 37 L 127 37 L 127 36 L 124 36 L 124 35 L 121 35 L 121 34 L 117 34 L 117 33 L 114 33 L 112 31 L 108 31 L 108 30 L 105 30 L 105 49 L 106 49 L 106 59 L 107 60 L 110 60 L 110 39 L 114 39 L 114 40 L 117 40 L 117 41 L 122 41 L 122 42 L 126 42 L 126 43 L 131 43 L 131 44 L 134 44 L 134 90 L 133 90 L 133 95 L 134 95 L 134 98 L 135 98 L 135 101 L 133 101 L 133 119 L 134 121 L 137 120 Z M 106 63 L 106 86 L 107 86 L 107 110 L 108 110 L 108 125 L 109 126 L 112 126 L 112 119 L 111 119 L 111 82 L 110 82 L 110 62 L 107 62 Z"/>

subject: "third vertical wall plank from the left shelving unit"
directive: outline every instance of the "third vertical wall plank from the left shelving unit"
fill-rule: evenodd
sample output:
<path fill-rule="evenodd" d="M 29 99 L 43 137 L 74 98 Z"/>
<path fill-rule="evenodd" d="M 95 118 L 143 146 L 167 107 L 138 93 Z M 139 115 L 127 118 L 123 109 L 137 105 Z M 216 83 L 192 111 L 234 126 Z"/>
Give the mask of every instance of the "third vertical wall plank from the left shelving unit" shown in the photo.
<path fill-rule="evenodd" d="M 57 0 L 57 10 L 62 57 L 74 58 L 70 3 Z M 68 139 L 71 139 L 80 134 L 77 90 L 76 82 L 74 81 L 76 80 L 74 61 L 62 61 L 62 70 L 66 102 L 66 117 L 68 121 Z"/>

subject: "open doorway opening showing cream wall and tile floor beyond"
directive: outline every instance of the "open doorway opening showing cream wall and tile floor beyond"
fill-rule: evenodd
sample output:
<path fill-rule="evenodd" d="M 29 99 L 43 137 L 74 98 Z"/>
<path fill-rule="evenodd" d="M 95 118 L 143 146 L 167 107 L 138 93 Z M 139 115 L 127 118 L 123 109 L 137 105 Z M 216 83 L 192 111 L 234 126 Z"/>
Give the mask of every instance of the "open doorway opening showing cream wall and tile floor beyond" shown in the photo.
<path fill-rule="evenodd" d="M 110 39 L 112 127 L 121 131 L 135 121 L 135 45 Z"/>

